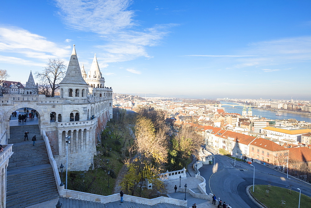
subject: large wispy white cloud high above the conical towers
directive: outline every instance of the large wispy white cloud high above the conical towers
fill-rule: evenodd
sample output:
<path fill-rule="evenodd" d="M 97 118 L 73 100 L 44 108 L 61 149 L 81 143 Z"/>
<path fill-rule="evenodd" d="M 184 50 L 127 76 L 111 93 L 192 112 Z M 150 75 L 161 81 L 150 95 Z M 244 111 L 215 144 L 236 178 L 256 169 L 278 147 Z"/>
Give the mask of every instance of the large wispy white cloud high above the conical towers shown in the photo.
<path fill-rule="evenodd" d="M 147 57 L 146 47 L 155 46 L 168 34 L 175 24 L 156 25 L 139 29 L 129 10 L 131 0 L 55 0 L 60 8 L 59 15 L 67 27 L 74 30 L 94 32 L 106 45 L 102 60 L 118 62 Z"/>

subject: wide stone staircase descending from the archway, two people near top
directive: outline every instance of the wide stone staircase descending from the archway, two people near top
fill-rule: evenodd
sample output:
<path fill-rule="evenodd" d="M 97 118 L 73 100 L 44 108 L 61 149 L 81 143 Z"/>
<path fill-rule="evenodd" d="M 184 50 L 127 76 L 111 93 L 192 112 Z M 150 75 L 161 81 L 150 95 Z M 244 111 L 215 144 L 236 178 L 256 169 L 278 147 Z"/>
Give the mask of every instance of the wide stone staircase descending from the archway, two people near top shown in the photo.
<path fill-rule="evenodd" d="M 30 132 L 29 141 L 24 141 L 26 130 Z M 35 146 L 31 141 L 33 135 L 37 137 Z M 8 143 L 14 144 L 14 153 L 7 167 L 7 208 L 27 207 L 58 198 L 53 169 L 38 125 L 11 126 Z"/>

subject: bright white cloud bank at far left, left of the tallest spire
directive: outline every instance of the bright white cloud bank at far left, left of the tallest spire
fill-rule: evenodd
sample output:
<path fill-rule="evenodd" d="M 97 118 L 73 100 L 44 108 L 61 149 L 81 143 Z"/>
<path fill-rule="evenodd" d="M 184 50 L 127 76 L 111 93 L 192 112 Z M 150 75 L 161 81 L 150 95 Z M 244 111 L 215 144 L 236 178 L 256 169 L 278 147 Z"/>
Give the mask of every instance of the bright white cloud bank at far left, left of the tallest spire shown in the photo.
<path fill-rule="evenodd" d="M 17 27 L 0 27 L 0 51 L 18 53 L 28 58 L 47 60 L 67 57 L 70 50 L 45 37 Z"/>

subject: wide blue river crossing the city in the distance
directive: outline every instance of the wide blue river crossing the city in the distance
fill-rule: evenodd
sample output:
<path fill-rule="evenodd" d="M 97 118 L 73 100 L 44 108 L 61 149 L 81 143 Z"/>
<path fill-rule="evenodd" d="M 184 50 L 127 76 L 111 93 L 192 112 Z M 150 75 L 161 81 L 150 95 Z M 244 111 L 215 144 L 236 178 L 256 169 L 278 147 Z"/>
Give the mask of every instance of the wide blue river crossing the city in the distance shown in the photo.
<path fill-rule="evenodd" d="M 232 107 L 232 106 L 226 106 L 226 104 L 233 104 L 233 105 L 239 105 L 239 104 L 234 103 L 234 102 L 227 103 L 227 102 L 221 101 L 221 107 L 224 107 L 226 112 L 242 114 L 243 106 Z M 246 110 L 248 110 L 248 107 L 246 108 Z M 263 110 L 260 108 L 252 108 L 252 111 L 253 111 L 253 116 L 256 115 L 258 117 L 265 117 L 269 119 L 278 119 L 278 120 L 293 118 L 293 119 L 296 119 L 297 121 L 311 122 L 311 116 L 307 116 L 307 115 L 287 113 L 287 112 L 281 112 L 281 111 L 277 111 L 277 112 L 268 111 L 268 110 Z M 281 116 L 276 116 L 275 114 L 281 114 Z"/>

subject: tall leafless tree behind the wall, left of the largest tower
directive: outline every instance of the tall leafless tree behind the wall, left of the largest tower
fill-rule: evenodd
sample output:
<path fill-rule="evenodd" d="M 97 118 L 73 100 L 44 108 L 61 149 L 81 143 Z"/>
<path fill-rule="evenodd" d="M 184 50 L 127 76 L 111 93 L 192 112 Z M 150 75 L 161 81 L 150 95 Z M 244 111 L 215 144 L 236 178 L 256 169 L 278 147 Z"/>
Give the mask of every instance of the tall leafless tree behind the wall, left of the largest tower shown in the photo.
<path fill-rule="evenodd" d="M 66 75 L 66 65 L 61 59 L 49 59 L 42 73 L 36 72 L 39 80 L 38 94 L 54 97 L 59 89 L 59 83 Z"/>

